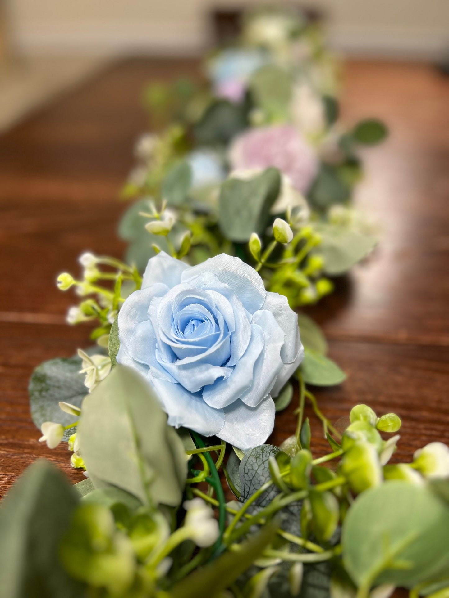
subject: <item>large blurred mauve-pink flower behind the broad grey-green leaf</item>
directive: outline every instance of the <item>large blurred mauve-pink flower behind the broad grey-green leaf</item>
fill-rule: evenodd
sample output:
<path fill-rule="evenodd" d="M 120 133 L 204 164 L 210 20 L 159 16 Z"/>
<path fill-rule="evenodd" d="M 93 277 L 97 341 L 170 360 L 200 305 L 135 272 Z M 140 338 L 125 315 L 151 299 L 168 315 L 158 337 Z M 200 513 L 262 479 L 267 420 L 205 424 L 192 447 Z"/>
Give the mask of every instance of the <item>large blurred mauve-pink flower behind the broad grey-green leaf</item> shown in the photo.
<path fill-rule="evenodd" d="M 307 193 L 318 171 L 318 158 L 295 127 L 283 124 L 250 129 L 238 135 L 229 151 L 232 169 L 274 166 L 293 187 Z"/>

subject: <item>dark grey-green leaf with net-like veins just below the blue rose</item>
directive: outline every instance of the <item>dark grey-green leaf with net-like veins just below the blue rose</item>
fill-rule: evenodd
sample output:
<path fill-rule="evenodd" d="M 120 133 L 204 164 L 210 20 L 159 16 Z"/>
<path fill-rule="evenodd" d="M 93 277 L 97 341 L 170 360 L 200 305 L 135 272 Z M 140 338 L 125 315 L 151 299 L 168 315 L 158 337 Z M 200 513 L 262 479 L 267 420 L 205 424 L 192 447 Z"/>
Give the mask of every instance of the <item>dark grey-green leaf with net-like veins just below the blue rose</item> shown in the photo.
<path fill-rule="evenodd" d="M 262 444 L 245 453 L 239 467 L 241 501 L 247 501 L 260 486 L 271 480 L 269 459 L 279 451 L 280 449 L 272 444 Z M 278 493 L 277 487 L 273 486 L 266 490 L 254 504 L 265 507 Z"/>

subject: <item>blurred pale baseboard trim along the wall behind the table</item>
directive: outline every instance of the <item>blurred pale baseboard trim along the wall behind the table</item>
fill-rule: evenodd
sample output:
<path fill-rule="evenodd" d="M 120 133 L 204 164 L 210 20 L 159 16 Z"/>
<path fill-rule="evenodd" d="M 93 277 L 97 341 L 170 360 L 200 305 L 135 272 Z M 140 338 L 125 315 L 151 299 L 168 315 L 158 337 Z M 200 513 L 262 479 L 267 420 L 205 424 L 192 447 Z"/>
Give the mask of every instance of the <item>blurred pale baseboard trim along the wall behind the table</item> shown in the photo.
<path fill-rule="evenodd" d="M 176 23 L 102 23 L 75 26 L 66 23 L 27 26 L 22 23 L 14 45 L 34 54 L 168 54 L 199 56 L 207 48 L 205 30 L 189 30 Z M 436 60 L 448 48 L 444 31 L 341 28 L 329 30 L 330 47 L 348 56 Z"/>

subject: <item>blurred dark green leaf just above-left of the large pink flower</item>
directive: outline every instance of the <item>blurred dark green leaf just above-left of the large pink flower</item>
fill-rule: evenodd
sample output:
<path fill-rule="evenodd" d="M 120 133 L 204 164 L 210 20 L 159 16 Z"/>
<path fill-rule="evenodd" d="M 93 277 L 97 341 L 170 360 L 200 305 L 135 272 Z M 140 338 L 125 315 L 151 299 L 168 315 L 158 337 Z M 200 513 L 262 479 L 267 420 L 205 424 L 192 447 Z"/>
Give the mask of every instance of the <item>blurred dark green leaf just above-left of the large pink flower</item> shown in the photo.
<path fill-rule="evenodd" d="M 247 126 L 248 119 L 243 106 L 217 100 L 204 112 L 194 133 L 199 144 L 227 145 Z"/>

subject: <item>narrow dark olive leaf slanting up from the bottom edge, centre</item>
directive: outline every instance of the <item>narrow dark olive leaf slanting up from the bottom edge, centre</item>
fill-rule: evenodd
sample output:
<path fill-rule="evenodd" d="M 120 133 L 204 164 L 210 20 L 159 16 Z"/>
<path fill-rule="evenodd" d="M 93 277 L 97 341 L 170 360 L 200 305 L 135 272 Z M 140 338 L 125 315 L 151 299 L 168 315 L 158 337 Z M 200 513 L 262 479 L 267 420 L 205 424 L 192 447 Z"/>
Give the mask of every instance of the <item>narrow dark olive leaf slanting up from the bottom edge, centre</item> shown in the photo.
<path fill-rule="evenodd" d="M 236 553 L 227 552 L 208 566 L 190 573 L 172 588 L 172 598 L 207 598 L 229 587 L 260 556 L 274 538 L 278 521 L 274 520 L 251 539 L 241 544 Z"/>

